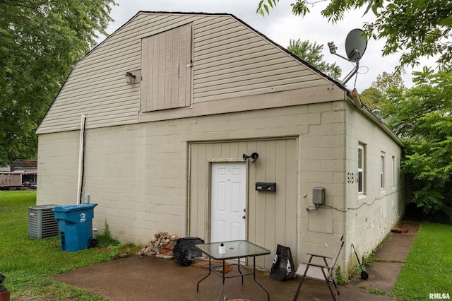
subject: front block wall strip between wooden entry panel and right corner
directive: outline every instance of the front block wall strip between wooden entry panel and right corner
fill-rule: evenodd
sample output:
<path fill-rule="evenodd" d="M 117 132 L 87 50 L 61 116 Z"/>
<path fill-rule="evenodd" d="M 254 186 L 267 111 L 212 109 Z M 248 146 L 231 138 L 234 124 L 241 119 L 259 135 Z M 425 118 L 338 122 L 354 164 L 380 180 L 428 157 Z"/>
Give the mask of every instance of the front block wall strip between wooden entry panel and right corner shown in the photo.
<path fill-rule="evenodd" d="M 314 212 L 313 187 L 325 189 L 325 205 L 343 208 L 345 185 L 345 102 L 309 106 L 317 114 L 316 124 L 299 136 L 300 205 L 298 261 L 307 261 L 306 253 L 333 256 L 345 230 L 343 213 L 322 206 Z"/>

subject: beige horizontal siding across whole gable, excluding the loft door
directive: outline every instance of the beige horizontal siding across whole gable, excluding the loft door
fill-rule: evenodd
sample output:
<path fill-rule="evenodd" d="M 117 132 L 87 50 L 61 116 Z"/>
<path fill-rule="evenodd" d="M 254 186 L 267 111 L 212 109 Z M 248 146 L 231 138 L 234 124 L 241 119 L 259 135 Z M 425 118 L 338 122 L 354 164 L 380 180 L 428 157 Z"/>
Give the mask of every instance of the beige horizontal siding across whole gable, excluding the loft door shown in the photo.
<path fill-rule="evenodd" d="M 190 100 L 185 98 L 182 104 L 173 97 L 165 97 L 165 93 L 162 103 L 179 107 L 169 111 L 184 110 L 182 114 L 167 114 L 168 110 L 145 112 L 154 109 L 148 107 L 149 102 L 141 107 L 141 98 L 153 95 L 145 92 L 148 88 L 143 89 L 141 78 L 131 85 L 127 85 L 124 79 L 127 71 L 138 75 L 143 73 L 141 40 L 189 23 L 193 26 L 194 38 L 194 66 L 187 69 L 192 78 L 186 83 L 189 85 L 186 91 L 190 91 Z M 143 78 L 146 78 L 145 74 Z M 325 90 L 331 85 L 326 78 L 233 16 L 140 12 L 78 61 L 38 127 L 37 134 L 78 129 L 81 114 L 88 114 L 87 128 L 90 129 L 171 119 L 174 116 L 213 114 L 210 112 L 218 111 L 215 110 L 218 107 L 222 113 L 237 112 L 244 109 L 242 106 L 228 105 L 232 98 L 302 88 L 319 87 Z M 165 87 L 170 89 L 169 86 Z M 158 109 L 162 108 L 160 98 L 157 95 Z M 221 100 L 225 100 L 223 105 L 218 103 Z M 317 98 L 309 99 L 309 102 L 318 101 Z M 186 107 L 190 103 L 191 106 Z M 203 105 L 205 103 L 209 105 Z M 201 110 L 198 110 L 197 104 L 201 105 Z M 272 106 L 284 105 L 281 101 L 274 102 Z M 167 105 L 163 107 L 167 108 Z M 155 114 L 161 117 L 155 117 Z"/>

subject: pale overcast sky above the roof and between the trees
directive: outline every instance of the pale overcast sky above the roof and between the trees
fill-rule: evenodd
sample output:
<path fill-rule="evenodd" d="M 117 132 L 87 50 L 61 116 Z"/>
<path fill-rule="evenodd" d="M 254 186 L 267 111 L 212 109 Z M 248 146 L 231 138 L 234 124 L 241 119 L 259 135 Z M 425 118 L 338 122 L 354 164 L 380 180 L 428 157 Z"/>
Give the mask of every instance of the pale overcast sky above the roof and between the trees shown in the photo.
<path fill-rule="evenodd" d="M 107 33 L 114 33 L 124 25 L 138 11 L 164 12 L 195 12 L 195 13 L 231 13 L 258 32 L 266 35 L 270 40 L 285 48 L 290 40 L 309 40 L 323 45 L 323 59 L 328 63 L 336 63 L 343 70 L 341 80 L 352 71 L 353 64 L 329 52 L 327 42 L 335 42 L 337 53 L 345 54 L 345 37 L 350 30 L 362 28 L 365 22 L 372 20 L 373 15 L 363 16 L 364 11 L 352 11 L 345 16 L 345 20 L 332 25 L 326 18 L 322 18 L 320 11 L 326 6 L 323 2 L 310 8 L 311 13 L 306 17 L 294 16 L 290 4 L 293 0 L 280 0 L 278 6 L 270 11 L 269 16 L 256 14 L 259 0 L 116 0 L 119 6 L 114 6 L 111 16 L 114 22 L 107 28 Z M 369 88 L 383 71 L 393 72 L 398 64 L 398 55 L 382 57 L 383 41 L 369 40 L 366 52 L 359 61 L 359 74 L 356 87 L 361 93 Z M 423 61 L 428 64 L 427 60 Z M 408 87 L 411 83 L 412 69 L 407 69 L 403 81 Z M 355 86 L 355 76 L 347 82 L 347 88 Z"/>

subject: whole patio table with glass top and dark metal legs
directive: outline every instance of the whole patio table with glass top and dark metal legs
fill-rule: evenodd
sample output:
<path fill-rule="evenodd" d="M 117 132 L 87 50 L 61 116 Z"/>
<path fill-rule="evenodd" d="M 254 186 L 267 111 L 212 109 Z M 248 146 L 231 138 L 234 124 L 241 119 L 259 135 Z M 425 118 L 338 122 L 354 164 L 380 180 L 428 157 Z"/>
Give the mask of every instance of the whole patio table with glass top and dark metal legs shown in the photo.
<path fill-rule="evenodd" d="M 223 243 L 225 245 L 226 252 L 225 254 L 219 253 L 220 244 Z M 209 257 L 209 272 L 206 276 L 204 276 L 200 281 L 198 281 L 198 285 L 196 286 L 196 292 L 199 290 L 199 283 L 201 283 L 204 279 L 210 276 L 210 273 L 213 271 L 218 276 L 222 277 L 222 286 L 220 290 L 220 295 L 218 295 L 218 299 L 223 292 L 223 288 L 225 288 L 225 278 L 234 278 L 234 277 L 242 277 L 242 285 L 243 285 L 243 276 L 253 275 L 254 281 L 267 293 L 267 300 L 270 301 L 270 293 L 268 290 L 263 287 L 261 283 L 259 283 L 256 279 L 256 256 L 262 256 L 270 254 L 270 250 L 264 249 L 263 247 L 259 247 L 257 244 L 253 244 L 252 242 L 248 242 L 246 240 L 233 240 L 230 242 L 211 242 L 206 244 L 196 244 L 196 248 L 198 248 L 201 252 L 206 254 Z M 253 257 L 253 268 L 249 268 L 240 264 L 240 259 L 245 257 Z M 222 272 L 218 272 L 212 268 L 211 262 L 212 259 L 222 261 Z M 227 260 L 237 259 L 237 264 L 225 263 Z M 225 268 L 227 266 L 237 266 L 237 271 L 239 274 L 234 274 L 232 276 L 225 275 Z M 242 272 L 242 269 L 246 271 Z"/>

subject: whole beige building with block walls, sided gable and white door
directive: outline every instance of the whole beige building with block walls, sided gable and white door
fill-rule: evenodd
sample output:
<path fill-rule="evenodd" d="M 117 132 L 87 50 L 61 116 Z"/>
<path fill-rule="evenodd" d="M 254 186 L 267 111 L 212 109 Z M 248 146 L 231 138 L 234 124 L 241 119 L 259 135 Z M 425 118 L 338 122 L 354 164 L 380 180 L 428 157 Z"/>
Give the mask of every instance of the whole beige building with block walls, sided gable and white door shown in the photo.
<path fill-rule="evenodd" d="M 37 129 L 37 204 L 93 225 L 246 239 L 295 264 L 371 252 L 403 216 L 402 143 L 340 83 L 230 14 L 140 11 L 78 61 Z"/>

